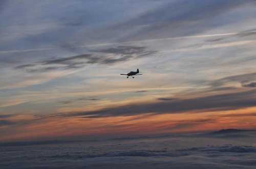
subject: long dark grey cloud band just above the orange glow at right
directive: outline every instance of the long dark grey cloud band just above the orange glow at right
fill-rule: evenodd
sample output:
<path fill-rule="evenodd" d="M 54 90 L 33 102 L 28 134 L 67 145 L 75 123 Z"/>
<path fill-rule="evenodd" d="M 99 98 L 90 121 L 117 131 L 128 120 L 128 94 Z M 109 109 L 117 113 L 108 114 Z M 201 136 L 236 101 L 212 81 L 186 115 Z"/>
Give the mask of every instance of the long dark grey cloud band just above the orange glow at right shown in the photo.
<path fill-rule="evenodd" d="M 85 116 L 87 118 L 133 116 L 139 114 L 175 114 L 182 112 L 202 112 L 217 110 L 232 110 L 256 106 L 256 90 L 245 92 L 210 95 L 204 97 L 166 100 L 156 103 L 141 103 L 120 107 L 111 107 L 95 111 L 73 112 L 63 116 Z"/>

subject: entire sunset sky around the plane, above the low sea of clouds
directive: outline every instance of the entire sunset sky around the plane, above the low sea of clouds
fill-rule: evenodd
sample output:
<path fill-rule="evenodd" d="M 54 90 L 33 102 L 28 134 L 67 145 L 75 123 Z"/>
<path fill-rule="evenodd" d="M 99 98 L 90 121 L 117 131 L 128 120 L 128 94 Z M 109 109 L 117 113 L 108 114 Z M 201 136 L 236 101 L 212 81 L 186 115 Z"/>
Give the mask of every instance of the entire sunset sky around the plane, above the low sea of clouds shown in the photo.
<path fill-rule="evenodd" d="M 255 129 L 255 7 L 1 1 L 0 142 Z"/>

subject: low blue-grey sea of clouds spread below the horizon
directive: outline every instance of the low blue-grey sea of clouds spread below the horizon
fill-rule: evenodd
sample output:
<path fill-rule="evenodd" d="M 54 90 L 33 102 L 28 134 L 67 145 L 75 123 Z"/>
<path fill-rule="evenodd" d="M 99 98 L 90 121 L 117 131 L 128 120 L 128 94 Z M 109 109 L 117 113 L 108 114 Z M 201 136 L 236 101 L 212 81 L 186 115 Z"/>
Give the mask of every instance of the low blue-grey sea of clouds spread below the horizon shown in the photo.
<path fill-rule="evenodd" d="M 135 142 L 115 140 L 115 142 L 9 143 L 8 152 L 3 150 L 5 156 L 0 165 L 18 169 L 122 168 L 123 166 L 143 169 L 169 168 L 170 166 L 191 169 L 224 169 L 252 168 L 256 164 L 254 146 L 233 146 L 231 144 L 192 146 L 196 144 L 195 139 L 199 141 L 197 138 L 193 140 L 186 138 L 185 141 L 184 138 L 177 140 L 161 138 L 161 140 L 150 139 L 150 141 L 142 138 L 141 142 L 136 139 Z M 25 145 L 26 147 L 22 147 Z M 35 160 L 37 160 L 36 163 Z"/>

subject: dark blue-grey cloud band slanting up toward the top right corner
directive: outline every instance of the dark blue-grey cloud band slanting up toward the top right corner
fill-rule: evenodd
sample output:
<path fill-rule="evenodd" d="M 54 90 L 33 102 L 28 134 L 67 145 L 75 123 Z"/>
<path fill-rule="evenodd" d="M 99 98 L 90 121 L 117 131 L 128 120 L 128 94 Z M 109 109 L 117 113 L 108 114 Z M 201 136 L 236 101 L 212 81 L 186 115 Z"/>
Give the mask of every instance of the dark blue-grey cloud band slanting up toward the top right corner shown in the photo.
<path fill-rule="evenodd" d="M 119 35 L 124 30 L 127 35 L 119 38 L 119 42 L 159 39 L 166 35 L 169 37 L 195 35 L 220 24 L 228 24 L 228 22 L 210 23 L 218 16 L 249 2 L 253 1 L 183 0 L 165 3 L 163 6 L 145 11 L 141 15 L 110 27 L 107 37 Z M 127 27 L 130 28 L 131 33 Z M 103 35 L 99 34 L 98 37 L 100 36 Z"/>

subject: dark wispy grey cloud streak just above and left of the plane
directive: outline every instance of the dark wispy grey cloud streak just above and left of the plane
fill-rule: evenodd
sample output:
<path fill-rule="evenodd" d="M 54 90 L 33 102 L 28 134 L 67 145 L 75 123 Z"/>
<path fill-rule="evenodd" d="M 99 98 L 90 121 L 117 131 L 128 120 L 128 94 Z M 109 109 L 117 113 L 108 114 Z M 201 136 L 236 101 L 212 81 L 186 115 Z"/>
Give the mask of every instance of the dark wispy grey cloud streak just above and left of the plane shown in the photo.
<path fill-rule="evenodd" d="M 28 72 L 45 72 L 56 69 L 77 69 L 88 64 L 112 65 L 146 56 L 152 56 L 156 50 L 147 50 L 146 47 L 117 46 L 106 49 L 93 50 L 91 53 L 74 55 L 66 58 L 52 58 L 32 64 L 16 66 Z"/>

